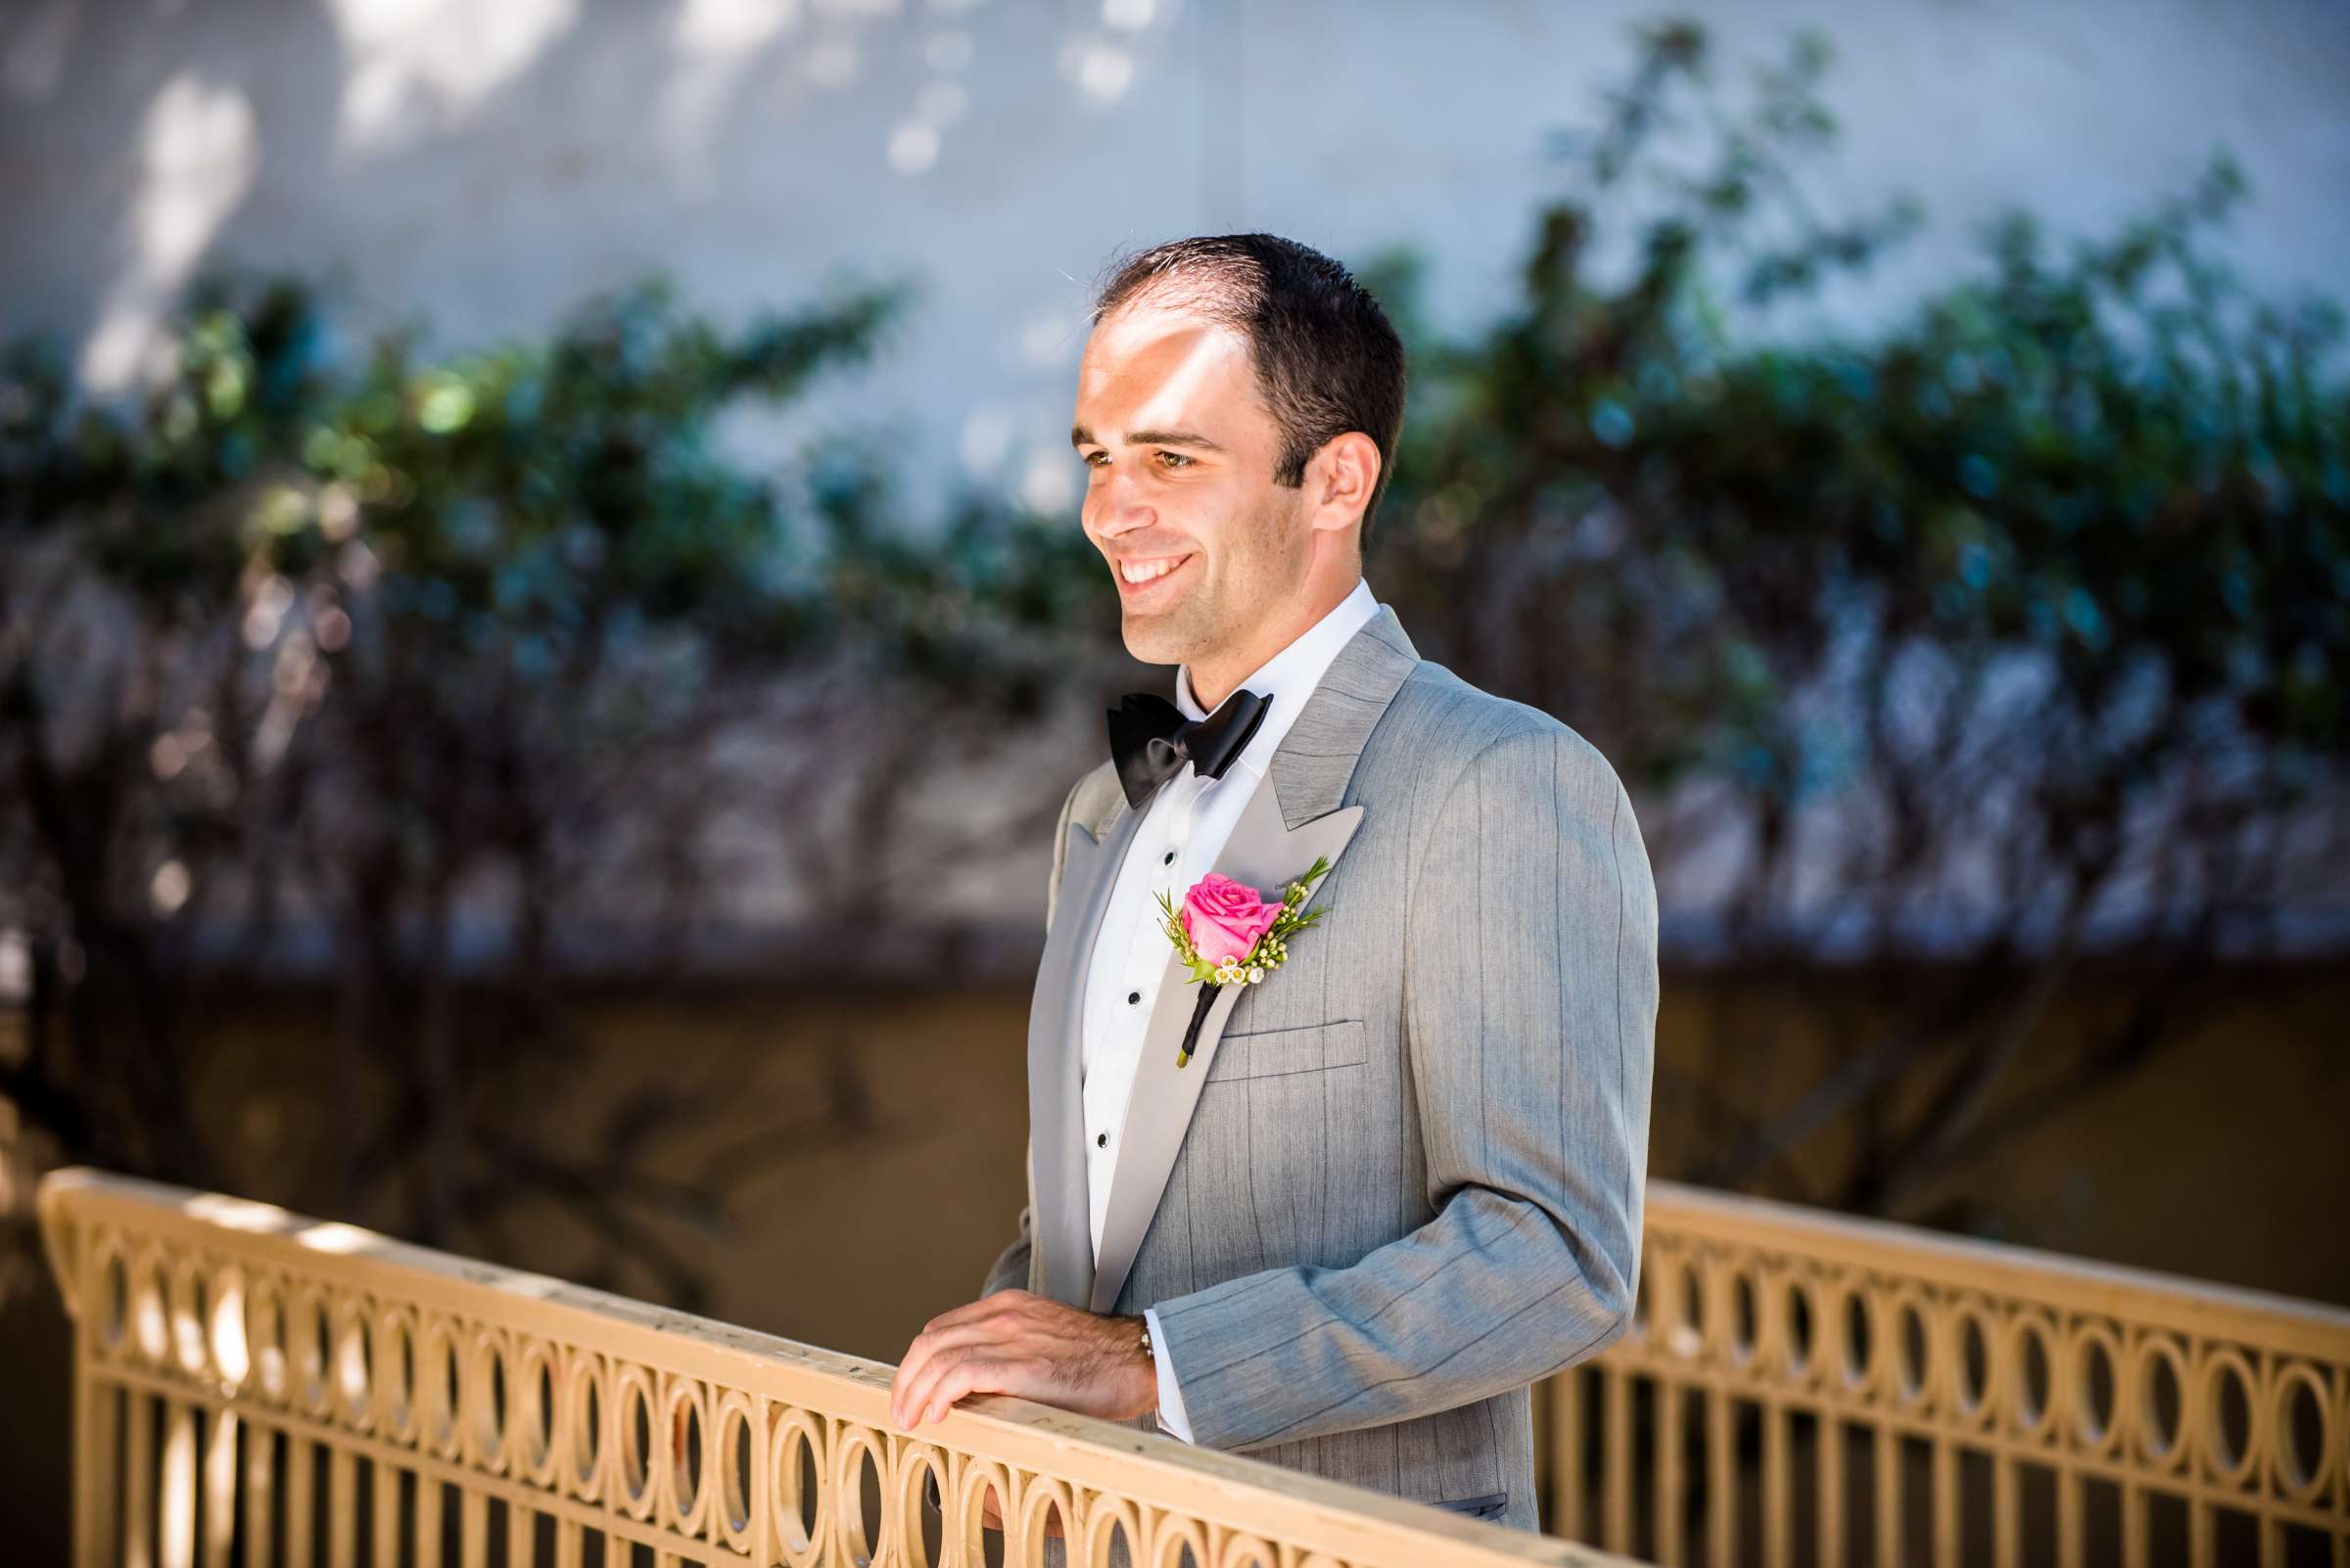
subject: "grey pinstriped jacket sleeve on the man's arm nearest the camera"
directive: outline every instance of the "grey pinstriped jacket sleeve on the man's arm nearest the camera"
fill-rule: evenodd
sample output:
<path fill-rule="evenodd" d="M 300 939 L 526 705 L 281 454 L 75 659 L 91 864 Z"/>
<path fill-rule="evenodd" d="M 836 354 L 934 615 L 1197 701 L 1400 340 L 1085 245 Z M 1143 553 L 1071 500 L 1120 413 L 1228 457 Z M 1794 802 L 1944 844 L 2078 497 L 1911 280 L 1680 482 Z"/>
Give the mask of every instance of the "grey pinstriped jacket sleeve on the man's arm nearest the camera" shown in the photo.
<path fill-rule="evenodd" d="M 1191 1437 L 1262 1448 L 1535 1383 L 1631 1322 L 1657 892 L 1614 770 L 1565 725 L 1478 751 L 1401 918 L 1417 1230 L 1347 1268 L 1156 1303 Z"/>

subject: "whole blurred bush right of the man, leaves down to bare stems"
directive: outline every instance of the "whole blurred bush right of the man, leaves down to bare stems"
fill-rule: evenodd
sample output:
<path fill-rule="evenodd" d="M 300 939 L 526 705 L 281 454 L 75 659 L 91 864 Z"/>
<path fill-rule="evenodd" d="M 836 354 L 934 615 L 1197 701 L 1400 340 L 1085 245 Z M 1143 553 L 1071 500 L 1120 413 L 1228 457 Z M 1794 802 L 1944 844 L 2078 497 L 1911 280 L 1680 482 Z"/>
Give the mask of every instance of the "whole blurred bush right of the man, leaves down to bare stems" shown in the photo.
<path fill-rule="evenodd" d="M 1365 268 L 1412 357 L 1370 577 L 1624 772 L 1680 955 L 1840 965 L 1795 1096 L 1751 1019 L 1659 1082 L 1692 1174 L 1885 1209 L 2225 1007 L 2223 960 L 2338 948 L 2350 380 L 2338 307 L 2223 258 L 2225 155 L 1849 326 L 1922 211 L 1814 195 L 1828 63 L 1645 28 L 1485 331 Z M 2059 1040 L 2089 955 L 2129 1005 Z"/>

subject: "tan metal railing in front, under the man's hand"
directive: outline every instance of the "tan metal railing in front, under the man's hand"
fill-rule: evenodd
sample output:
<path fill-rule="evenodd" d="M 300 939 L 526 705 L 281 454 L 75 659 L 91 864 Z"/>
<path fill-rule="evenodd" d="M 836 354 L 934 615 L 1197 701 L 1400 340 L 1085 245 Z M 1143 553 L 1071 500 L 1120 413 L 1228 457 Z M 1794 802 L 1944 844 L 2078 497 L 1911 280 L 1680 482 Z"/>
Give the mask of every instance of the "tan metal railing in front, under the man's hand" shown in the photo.
<path fill-rule="evenodd" d="M 907 1437 L 877 1361 L 268 1204 L 78 1167 L 40 1225 L 82 1568 L 1612 1561 L 1015 1399 Z"/>

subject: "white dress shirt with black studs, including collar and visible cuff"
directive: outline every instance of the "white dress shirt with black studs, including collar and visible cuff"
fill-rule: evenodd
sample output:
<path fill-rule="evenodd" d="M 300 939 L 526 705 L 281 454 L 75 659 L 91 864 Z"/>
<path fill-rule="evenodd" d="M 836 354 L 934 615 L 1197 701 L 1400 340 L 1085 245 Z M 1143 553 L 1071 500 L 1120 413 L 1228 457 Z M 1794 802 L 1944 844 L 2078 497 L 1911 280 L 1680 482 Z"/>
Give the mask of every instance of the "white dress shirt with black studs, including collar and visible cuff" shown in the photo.
<path fill-rule="evenodd" d="M 1168 939 L 1159 927 L 1161 911 L 1156 894 L 1182 908 L 1191 883 L 1215 869 L 1224 840 L 1241 822 L 1241 807 L 1257 789 L 1264 770 L 1274 761 L 1281 737 L 1297 723 L 1314 685 L 1321 683 L 1330 660 L 1379 613 L 1370 584 L 1356 577 L 1354 592 L 1337 601 L 1328 615 L 1307 627 L 1297 641 L 1269 657 L 1241 688 L 1260 692 L 1271 702 L 1248 746 L 1231 761 L 1220 779 L 1203 779 L 1191 765 L 1159 786 L 1144 807 L 1142 822 L 1119 861 L 1119 880 L 1109 890 L 1109 908 L 1093 941 L 1093 958 L 1086 967 L 1086 998 L 1079 1021 L 1079 1084 L 1086 1108 L 1086 1195 L 1093 1221 L 1093 1256 L 1102 1256 L 1102 1218 L 1109 1214 L 1109 1176 L 1119 1164 L 1119 1138 L 1126 1134 L 1126 1096 L 1135 1082 L 1135 1066 L 1142 1061 L 1142 1028 L 1149 1023 L 1152 1002 L 1159 998 L 1159 974 L 1166 969 Z M 1198 721 L 1208 711 L 1191 697 L 1191 667 L 1175 671 L 1175 707 L 1184 718 Z M 1159 1364 L 1159 1425 L 1182 1441 L 1191 1441 L 1191 1422 L 1184 1418 L 1182 1390 L 1168 1366 L 1159 1336 L 1159 1314 L 1144 1307 L 1152 1329 L 1152 1345 Z"/>

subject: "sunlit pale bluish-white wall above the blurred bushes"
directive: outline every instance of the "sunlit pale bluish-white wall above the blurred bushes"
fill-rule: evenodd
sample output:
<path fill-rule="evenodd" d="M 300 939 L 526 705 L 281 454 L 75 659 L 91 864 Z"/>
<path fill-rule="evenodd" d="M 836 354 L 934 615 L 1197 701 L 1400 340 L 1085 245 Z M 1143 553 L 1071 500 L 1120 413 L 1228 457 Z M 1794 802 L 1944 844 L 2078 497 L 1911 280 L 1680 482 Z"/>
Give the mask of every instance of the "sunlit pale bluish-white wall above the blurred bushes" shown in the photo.
<path fill-rule="evenodd" d="M 2023 202 L 2103 230 L 2228 146 L 2268 286 L 2343 289 L 2338 0 L 1713 0 L 1725 80 L 1800 23 L 1838 45 L 1821 200 L 1934 228 L 1847 322 Z M 818 420 L 891 420 L 949 474 L 1074 500 L 1081 305 L 1119 246 L 1269 228 L 1347 261 L 1417 242 L 1445 324 L 1511 286 L 1589 122 L 1624 0 L 9 0 L 0 333 L 120 385 L 204 261 L 348 263 L 355 324 L 545 326 L 649 265 L 736 317 L 837 270 L 916 270 L 898 350 Z M 776 430 L 747 420 L 759 451 Z"/>

